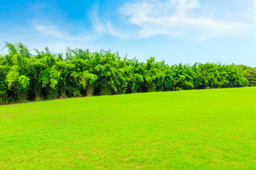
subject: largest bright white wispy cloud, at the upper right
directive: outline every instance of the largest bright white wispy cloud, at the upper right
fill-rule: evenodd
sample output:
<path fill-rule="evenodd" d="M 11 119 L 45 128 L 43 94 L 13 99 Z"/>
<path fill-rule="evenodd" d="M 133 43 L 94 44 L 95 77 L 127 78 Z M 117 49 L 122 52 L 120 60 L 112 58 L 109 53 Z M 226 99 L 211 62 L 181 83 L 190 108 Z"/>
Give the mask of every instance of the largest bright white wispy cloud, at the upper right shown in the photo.
<path fill-rule="evenodd" d="M 213 20 L 213 11 L 206 13 L 198 0 L 143 0 L 124 4 L 119 12 L 126 19 L 127 26 L 136 26 L 118 30 L 110 21 L 100 21 L 94 18 L 95 29 L 100 33 L 109 33 L 120 38 L 148 38 L 154 35 L 169 35 L 174 37 L 204 40 L 217 35 L 240 34 L 252 30 L 251 23 L 240 23 Z M 206 17 L 208 16 L 208 17 Z"/>

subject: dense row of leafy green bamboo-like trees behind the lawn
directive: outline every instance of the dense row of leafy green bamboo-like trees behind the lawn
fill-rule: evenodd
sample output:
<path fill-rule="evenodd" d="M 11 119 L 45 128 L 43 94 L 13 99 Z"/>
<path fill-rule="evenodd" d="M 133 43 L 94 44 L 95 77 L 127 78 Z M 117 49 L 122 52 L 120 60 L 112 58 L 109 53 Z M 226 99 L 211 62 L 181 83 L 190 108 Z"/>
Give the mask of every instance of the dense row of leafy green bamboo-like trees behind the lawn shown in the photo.
<path fill-rule="evenodd" d="M 0 55 L 0 103 L 73 96 L 131 94 L 256 86 L 256 68 L 236 64 L 169 65 L 150 57 L 139 62 L 118 52 L 68 48 L 65 55 L 48 47 L 32 55 L 21 42 L 6 42 Z"/>

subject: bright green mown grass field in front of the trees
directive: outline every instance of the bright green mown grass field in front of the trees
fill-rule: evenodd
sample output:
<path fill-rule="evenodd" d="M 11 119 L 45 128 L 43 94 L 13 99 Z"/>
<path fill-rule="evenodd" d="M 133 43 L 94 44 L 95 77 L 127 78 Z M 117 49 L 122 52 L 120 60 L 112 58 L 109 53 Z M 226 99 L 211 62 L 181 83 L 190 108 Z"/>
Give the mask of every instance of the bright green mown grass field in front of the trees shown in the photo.
<path fill-rule="evenodd" d="M 0 106 L 0 169 L 255 169 L 256 88 Z"/>

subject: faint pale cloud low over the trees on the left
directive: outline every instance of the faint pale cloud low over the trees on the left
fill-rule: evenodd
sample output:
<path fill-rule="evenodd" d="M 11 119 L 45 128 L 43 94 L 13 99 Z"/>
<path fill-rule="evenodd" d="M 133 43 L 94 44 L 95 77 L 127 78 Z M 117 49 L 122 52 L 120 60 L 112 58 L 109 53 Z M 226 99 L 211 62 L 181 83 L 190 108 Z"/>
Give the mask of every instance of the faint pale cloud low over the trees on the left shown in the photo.
<path fill-rule="evenodd" d="M 53 52 L 65 52 L 67 47 L 71 49 L 76 47 L 82 49 L 90 48 L 90 50 L 100 49 L 97 45 L 91 44 L 91 42 L 100 38 L 100 35 L 90 33 L 80 28 L 80 26 L 73 27 L 74 32 L 78 32 L 79 30 L 79 33 L 70 33 L 69 28 L 55 23 L 39 22 L 36 20 L 28 21 L 28 23 L 30 29 L 26 30 L 23 35 L 26 36 L 27 42 L 24 42 L 23 36 L 20 39 L 28 45 L 29 49 L 43 50 L 46 46 Z M 40 40 L 40 42 L 36 43 L 36 46 L 34 43 L 31 43 L 35 40 Z M 33 50 L 31 52 L 33 52 Z"/>

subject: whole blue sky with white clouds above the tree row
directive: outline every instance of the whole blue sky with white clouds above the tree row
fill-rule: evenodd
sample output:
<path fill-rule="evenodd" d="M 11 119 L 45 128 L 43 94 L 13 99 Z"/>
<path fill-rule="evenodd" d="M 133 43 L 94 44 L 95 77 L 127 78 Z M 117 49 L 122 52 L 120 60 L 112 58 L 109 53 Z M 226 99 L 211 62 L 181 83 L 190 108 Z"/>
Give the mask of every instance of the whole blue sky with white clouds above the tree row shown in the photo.
<path fill-rule="evenodd" d="M 7 41 L 23 42 L 31 52 L 46 46 L 53 52 L 111 49 L 141 61 L 255 67 L 253 1 L 1 0 L 0 46 Z"/>

